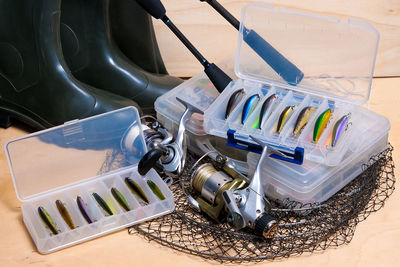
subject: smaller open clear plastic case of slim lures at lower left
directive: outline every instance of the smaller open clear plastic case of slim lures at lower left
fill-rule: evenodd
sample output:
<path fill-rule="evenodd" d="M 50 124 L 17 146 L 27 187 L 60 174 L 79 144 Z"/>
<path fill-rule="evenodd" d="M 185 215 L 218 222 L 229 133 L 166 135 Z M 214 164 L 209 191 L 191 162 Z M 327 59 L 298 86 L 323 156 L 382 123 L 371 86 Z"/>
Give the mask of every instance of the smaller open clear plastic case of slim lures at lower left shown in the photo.
<path fill-rule="evenodd" d="M 149 220 L 174 210 L 173 194 L 154 171 L 142 177 L 137 164 L 146 153 L 140 118 L 134 107 L 108 112 L 88 119 L 23 136 L 5 145 L 15 191 L 22 205 L 23 221 L 40 253 L 50 253 Z M 130 177 L 149 199 L 146 204 L 125 185 Z M 148 187 L 153 181 L 165 199 Z M 126 199 L 125 211 L 111 194 L 117 188 Z M 107 215 L 92 194 L 96 192 L 109 205 Z M 80 196 L 93 223 L 82 216 Z M 76 228 L 70 229 L 57 210 L 61 200 Z M 38 207 L 44 207 L 58 234 L 51 233 L 41 220 Z"/>

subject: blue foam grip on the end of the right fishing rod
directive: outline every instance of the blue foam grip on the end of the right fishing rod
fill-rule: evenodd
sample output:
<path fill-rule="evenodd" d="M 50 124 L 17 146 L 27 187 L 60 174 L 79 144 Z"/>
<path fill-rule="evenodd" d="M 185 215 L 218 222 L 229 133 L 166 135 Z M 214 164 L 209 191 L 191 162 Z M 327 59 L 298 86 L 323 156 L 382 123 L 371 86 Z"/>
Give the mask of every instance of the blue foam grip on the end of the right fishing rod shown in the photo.
<path fill-rule="evenodd" d="M 243 40 L 288 84 L 297 85 L 304 73 L 253 30 L 243 31 Z"/>

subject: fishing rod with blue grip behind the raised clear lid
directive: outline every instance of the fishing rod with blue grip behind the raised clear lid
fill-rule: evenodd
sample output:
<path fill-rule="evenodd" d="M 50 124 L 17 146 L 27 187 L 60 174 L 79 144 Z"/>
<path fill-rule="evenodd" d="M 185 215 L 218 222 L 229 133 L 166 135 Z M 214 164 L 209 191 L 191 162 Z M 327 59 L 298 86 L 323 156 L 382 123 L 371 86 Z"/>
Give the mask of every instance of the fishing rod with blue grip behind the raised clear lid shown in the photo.
<path fill-rule="evenodd" d="M 240 22 L 220 3 L 218 3 L 216 0 L 200 1 L 207 2 L 239 31 Z M 304 73 L 281 53 L 279 53 L 279 51 L 276 50 L 271 44 L 258 35 L 254 30 L 244 28 L 243 40 L 288 84 L 297 85 L 301 82 L 304 77 Z"/>

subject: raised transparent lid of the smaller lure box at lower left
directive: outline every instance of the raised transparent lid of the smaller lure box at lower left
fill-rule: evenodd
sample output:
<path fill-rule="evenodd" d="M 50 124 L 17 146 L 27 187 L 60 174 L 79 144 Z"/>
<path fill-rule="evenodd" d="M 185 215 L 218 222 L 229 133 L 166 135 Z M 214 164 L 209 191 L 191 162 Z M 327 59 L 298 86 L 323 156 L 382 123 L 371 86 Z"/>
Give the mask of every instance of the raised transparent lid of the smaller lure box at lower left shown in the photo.
<path fill-rule="evenodd" d="M 146 151 L 135 107 L 73 120 L 5 144 L 21 201 L 137 165 Z"/>

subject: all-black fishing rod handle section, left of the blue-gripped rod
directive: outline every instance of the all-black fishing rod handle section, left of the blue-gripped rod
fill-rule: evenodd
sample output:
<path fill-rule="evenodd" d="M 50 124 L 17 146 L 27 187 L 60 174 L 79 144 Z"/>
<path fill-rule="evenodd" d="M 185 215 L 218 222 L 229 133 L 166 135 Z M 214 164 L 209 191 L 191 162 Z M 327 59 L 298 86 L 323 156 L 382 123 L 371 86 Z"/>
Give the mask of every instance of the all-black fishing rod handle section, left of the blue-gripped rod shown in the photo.
<path fill-rule="evenodd" d="M 174 23 L 166 15 L 164 5 L 160 0 L 136 0 L 139 5 L 143 7 L 155 19 L 161 19 L 165 25 L 178 37 L 179 40 L 189 49 L 189 51 L 196 57 L 196 59 L 203 65 L 204 72 L 217 88 L 218 92 L 222 92 L 232 79 L 223 72 L 214 63 L 208 60 L 194 47 L 194 45 L 183 35 L 183 33 L 175 26 Z"/>

